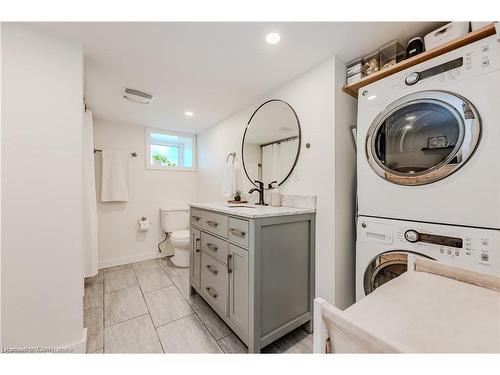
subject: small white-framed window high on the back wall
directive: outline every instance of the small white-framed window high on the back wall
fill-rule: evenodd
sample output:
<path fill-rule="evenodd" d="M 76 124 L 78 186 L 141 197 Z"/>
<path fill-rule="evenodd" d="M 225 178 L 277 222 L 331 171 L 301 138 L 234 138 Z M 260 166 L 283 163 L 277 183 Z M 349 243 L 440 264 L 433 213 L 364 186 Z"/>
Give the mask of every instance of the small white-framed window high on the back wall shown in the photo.
<path fill-rule="evenodd" d="M 146 129 L 146 168 L 196 170 L 196 136 Z"/>

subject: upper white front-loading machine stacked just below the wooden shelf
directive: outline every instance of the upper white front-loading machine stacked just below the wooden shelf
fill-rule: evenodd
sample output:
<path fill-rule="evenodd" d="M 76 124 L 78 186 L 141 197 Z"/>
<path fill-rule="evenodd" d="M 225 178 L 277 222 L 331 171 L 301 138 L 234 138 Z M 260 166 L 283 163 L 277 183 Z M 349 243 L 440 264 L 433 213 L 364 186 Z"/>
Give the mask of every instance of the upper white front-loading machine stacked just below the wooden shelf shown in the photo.
<path fill-rule="evenodd" d="M 359 214 L 500 229 L 500 43 L 361 88 Z"/>

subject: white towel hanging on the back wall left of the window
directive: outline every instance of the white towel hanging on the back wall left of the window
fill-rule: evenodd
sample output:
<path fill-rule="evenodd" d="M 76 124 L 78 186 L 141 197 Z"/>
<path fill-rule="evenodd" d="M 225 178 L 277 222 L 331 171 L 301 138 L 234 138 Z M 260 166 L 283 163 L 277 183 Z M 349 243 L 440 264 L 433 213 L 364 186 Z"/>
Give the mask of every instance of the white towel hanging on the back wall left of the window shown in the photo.
<path fill-rule="evenodd" d="M 102 150 L 103 202 L 128 201 L 130 153 L 117 150 Z"/>

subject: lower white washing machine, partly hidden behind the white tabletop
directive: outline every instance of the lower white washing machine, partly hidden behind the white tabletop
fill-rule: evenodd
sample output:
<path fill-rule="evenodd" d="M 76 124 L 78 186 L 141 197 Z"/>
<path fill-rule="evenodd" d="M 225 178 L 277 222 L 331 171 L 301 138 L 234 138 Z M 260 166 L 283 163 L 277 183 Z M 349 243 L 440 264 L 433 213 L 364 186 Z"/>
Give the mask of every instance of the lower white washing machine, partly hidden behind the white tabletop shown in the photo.
<path fill-rule="evenodd" d="M 407 271 L 408 255 L 500 275 L 500 231 L 358 217 L 356 301 Z"/>

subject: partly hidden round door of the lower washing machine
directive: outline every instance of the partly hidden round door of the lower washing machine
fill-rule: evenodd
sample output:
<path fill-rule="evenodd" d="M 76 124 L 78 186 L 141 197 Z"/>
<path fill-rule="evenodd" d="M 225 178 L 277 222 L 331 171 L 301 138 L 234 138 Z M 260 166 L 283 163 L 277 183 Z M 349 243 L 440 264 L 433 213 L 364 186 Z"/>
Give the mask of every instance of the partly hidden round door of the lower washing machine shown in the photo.
<path fill-rule="evenodd" d="M 365 295 L 370 294 L 379 286 L 405 273 L 408 270 L 409 254 L 431 259 L 425 255 L 409 251 L 396 250 L 380 254 L 366 268 L 363 280 Z"/>

